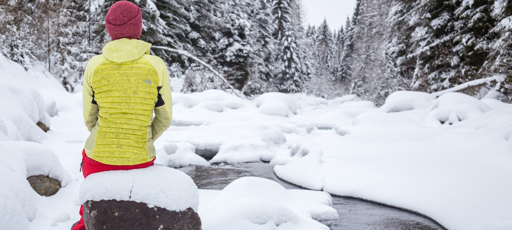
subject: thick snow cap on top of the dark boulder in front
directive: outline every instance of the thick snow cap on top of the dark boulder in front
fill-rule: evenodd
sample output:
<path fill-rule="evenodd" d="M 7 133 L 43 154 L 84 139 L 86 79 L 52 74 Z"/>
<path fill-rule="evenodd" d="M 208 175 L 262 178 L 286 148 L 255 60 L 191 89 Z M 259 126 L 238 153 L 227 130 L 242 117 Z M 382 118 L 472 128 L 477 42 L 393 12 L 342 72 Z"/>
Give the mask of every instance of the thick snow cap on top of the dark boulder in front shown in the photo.
<path fill-rule="evenodd" d="M 158 206 L 169 211 L 197 212 L 199 192 L 192 178 L 163 166 L 127 171 L 106 171 L 89 175 L 80 186 L 80 202 L 127 200 Z"/>

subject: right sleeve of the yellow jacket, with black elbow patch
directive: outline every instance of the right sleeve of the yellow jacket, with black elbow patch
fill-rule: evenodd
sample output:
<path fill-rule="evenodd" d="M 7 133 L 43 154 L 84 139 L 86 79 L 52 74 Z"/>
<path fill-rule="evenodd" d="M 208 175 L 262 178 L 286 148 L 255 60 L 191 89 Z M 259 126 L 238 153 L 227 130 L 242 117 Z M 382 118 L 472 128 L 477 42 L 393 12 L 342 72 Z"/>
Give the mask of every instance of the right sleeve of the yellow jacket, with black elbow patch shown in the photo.
<path fill-rule="evenodd" d="M 170 91 L 169 73 L 163 60 L 158 59 L 158 64 L 154 64 L 154 67 L 157 69 L 161 80 L 158 86 L 158 100 L 155 104 L 155 118 L 151 124 L 153 141 L 156 141 L 173 121 L 173 99 Z"/>

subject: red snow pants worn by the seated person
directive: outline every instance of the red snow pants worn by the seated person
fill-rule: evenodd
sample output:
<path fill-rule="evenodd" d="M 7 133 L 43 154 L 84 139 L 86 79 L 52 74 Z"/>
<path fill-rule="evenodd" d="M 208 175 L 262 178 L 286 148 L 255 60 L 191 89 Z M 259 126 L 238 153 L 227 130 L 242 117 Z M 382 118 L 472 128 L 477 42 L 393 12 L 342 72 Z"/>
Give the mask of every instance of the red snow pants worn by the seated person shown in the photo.
<path fill-rule="evenodd" d="M 83 178 L 87 176 L 104 171 L 114 170 L 131 170 L 131 169 L 143 169 L 154 165 L 155 158 L 151 162 L 142 163 L 139 165 L 107 165 L 97 162 L 86 155 L 86 150 L 82 150 L 82 173 Z M 80 206 L 80 220 L 71 230 L 86 230 L 86 224 L 83 223 L 83 205 Z"/>

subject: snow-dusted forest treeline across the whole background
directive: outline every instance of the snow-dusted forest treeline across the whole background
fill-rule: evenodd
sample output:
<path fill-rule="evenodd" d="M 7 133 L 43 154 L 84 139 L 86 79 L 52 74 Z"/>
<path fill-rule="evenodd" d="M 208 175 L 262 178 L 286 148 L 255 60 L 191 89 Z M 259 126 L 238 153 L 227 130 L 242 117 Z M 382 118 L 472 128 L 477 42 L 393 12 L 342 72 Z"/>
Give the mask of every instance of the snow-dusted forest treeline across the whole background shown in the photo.
<path fill-rule="evenodd" d="M 110 41 L 112 0 L 0 0 L 0 51 L 45 63 L 69 91 Z M 251 96 L 268 91 L 346 94 L 381 104 L 396 90 L 429 93 L 502 75 L 512 99 L 512 0 L 358 0 L 342 28 L 304 24 L 300 0 L 133 0 L 141 39 L 188 51 Z M 153 49 L 181 91 L 225 85 L 195 61 Z M 473 87 L 478 95 L 497 82 Z"/>

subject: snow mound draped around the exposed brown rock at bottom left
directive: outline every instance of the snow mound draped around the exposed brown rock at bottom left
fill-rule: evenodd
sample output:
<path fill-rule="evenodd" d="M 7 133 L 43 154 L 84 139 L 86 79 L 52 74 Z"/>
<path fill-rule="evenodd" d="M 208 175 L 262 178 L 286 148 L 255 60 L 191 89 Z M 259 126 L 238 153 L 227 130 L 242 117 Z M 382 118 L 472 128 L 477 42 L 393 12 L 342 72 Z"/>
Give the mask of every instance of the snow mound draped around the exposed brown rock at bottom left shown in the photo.
<path fill-rule="evenodd" d="M 36 201 L 41 197 L 30 187 L 27 177 L 39 174 L 59 180 L 62 187 L 72 181 L 71 175 L 48 147 L 33 142 L 0 142 L 0 218 L 3 227 L 27 229 L 28 221 L 34 219 Z"/>

